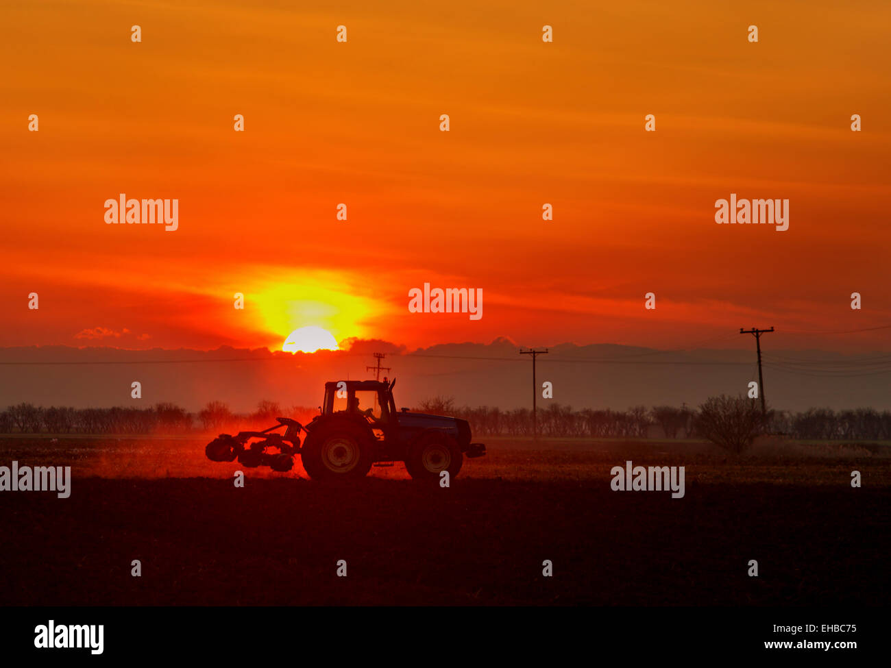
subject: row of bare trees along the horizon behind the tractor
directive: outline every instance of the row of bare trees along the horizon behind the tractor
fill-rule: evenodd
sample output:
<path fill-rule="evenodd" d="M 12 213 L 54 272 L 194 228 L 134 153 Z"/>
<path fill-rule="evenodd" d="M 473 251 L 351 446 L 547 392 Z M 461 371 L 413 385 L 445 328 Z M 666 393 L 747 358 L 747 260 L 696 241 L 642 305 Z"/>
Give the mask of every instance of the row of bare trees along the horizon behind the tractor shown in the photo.
<path fill-rule="evenodd" d="M 766 418 L 755 403 L 743 397 L 712 397 L 693 410 L 689 407 L 634 406 L 626 411 L 583 409 L 550 403 L 538 410 L 541 436 L 585 436 L 594 438 L 708 438 L 715 425 L 756 428 L 759 433 L 791 436 L 805 440 L 891 439 L 891 411 L 871 408 L 833 411 L 812 408 L 803 412 L 768 411 Z M 470 422 L 474 437 L 532 436 L 532 411 L 503 410 L 488 406 L 457 406 L 452 397 L 437 396 L 420 403 L 418 411 L 452 415 Z M 735 411 L 735 412 L 734 412 Z M 0 433 L 21 434 L 184 434 L 212 430 L 266 428 L 276 417 L 307 422 L 317 409 L 303 406 L 282 408 L 261 401 L 257 410 L 235 413 L 223 402 L 210 402 L 198 412 L 185 411 L 174 403 L 156 403 L 149 408 L 44 408 L 19 403 L 0 411 Z M 709 423 L 708 420 L 712 420 Z M 756 423 L 756 425 L 755 425 Z M 708 425 L 712 424 L 711 427 Z M 755 425 L 753 427 L 753 425 Z M 654 434 L 658 426 L 661 434 Z"/>

